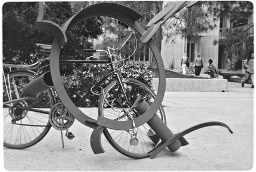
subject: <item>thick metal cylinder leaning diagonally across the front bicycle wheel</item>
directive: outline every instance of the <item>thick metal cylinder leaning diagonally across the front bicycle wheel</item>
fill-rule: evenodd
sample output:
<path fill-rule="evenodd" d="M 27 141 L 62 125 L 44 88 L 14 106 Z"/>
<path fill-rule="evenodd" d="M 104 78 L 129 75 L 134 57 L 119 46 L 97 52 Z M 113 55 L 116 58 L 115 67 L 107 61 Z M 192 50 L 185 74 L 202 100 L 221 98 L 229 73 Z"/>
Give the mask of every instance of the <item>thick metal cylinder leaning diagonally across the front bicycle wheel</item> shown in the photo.
<path fill-rule="evenodd" d="M 134 104 L 134 109 L 139 114 L 144 114 L 150 108 L 150 105 L 146 102 L 146 100 L 141 99 L 136 104 Z M 150 120 L 147 121 L 147 124 L 151 127 L 152 131 L 156 133 L 156 135 L 164 142 L 168 139 L 174 137 L 174 133 L 164 124 L 163 120 L 159 118 L 158 115 L 154 115 Z M 181 146 L 180 140 L 176 140 L 171 145 L 168 145 L 167 148 L 171 150 L 171 152 L 175 152 Z"/>

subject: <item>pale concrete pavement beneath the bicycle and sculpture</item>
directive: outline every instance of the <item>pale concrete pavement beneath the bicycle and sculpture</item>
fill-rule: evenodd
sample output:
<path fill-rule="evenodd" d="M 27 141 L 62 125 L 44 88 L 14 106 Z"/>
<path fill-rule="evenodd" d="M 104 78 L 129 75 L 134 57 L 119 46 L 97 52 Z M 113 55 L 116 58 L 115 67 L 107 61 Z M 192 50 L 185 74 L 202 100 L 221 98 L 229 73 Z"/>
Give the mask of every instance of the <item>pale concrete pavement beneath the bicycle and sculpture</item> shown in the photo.
<path fill-rule="evenodd" d="M 103 154 L 90 148 L 92 129 L 75 121 L 62 148 L 60 131 L 51 129 L 38 144 L 24 150 L 3 148 L 3 165 L 10 171 L 191 171 L 250 170 L 253 167 L 253 100 L 250 85 L 228 82 L 227 92 L 166 92 L 163 105 L 172 132 L 208 121 L 219 126 L 202 128 L 188 135 L 187 146 L 171 153 L 165 149 L 154 159 L 134 160 L 118 153 L 102 135 Z M 87 114 L 97 115 L 96 108 Z"/>

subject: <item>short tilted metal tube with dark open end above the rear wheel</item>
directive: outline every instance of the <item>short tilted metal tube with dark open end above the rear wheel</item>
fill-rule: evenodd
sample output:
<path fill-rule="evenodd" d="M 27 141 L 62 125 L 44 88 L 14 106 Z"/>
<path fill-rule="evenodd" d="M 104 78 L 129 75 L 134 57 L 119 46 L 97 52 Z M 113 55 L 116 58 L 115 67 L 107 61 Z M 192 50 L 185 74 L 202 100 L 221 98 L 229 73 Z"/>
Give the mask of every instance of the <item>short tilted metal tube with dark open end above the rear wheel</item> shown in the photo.
<path fill-rule="evenodd" d="M 53 86 L 51 72 L 46 72 L 23 87 L 24 96 L 35 96 Z"/>

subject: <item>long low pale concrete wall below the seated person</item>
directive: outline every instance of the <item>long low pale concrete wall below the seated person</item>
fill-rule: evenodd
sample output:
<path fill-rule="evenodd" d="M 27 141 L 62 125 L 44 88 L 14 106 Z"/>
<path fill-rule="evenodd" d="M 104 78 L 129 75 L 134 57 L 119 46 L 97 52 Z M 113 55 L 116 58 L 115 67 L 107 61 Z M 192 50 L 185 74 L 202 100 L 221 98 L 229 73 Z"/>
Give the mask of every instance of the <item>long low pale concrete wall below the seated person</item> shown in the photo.
<path fill-rule="evenodd" d="M 153 90 L 158 90 L 158 78 L 153 78 Z M 228 91 L 227 79 L 166 78 L 166 91 L 221 92 Z"/>

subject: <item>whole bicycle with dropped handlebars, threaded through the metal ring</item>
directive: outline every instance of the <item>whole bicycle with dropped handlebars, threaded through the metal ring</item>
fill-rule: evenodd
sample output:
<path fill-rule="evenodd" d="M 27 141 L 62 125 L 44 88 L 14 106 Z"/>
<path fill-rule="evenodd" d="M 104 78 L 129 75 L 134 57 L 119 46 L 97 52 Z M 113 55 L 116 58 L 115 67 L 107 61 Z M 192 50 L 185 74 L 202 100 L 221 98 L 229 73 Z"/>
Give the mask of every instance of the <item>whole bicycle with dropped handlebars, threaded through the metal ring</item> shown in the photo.
<path fill-rule="evenodd" d="M 60 60 L 60 64 L 82 62 L 83 64 L 100 63 L 109 65 L 112 70 L 108 74 L 106 74 L 104 78 L 98 81 L 98 83 L 96 83 L 96 85 L 94 85 L 90 89 L 89 93 L 86 93 L 83 98 L 76 102 L 76 107 L 80 107 L 81 103 L 91 94 L 101 95 L 98 105 L 98 114 L 109 119 L 126 121 L 134 120 L 135 118 L 139 117 L 139 114 L 131 108 L 138 98 L 143 98 L 147 100 L 148 104 L 151 105 L 152 102 L 154 102 L 156 95 L 154 91 L 150 89 L 150 87 L 148 87 L 141 81 L 133 78 L 123 78 L 120 74 L 119 70 L 125 64 L 125 60 L 119 57 L 116 52 L 118 52 L 120 49 L 122 49 L 123 46 L 126 45 L 127 41 L 131 38 L 131 36 L 134 36 L 134 33 L 133 31 L 131 31 L 131 28 L 129 28 L 125 23 L 119 23 L 122 24 L 125 30 L 129 32 L 129 34 L 123 40 L 119 47 L 108 47 L 108 51 L 100 49 L 84 49 L 85 52 L 90 52 L 94 54 L 92 56 L 86 57 L 85 60 Z M 40 46 L 49 47 L 43 44 L 40 44 Z M 107 55 L 108 60 L 95 60 L 98 56 L 96 53 L 101 53 L 101 56 Z M 46 60 L 49 60 L 49 58 L 47 58 Z M 32 72 L 31 70 L 38 68 L 40 63 L 42 63 L 42 61 L 36 62 L 35 64 L 28 66 L 3 64 L 4 67 L 8 68 L 25 69 L 15 70 L 11 73 L 7 73 L 5 75 L 7 77 L 3 79 L 5 81 L 5 89 L 3 91 L 7 93 L 7 95 L 11 95 L 9 96 L 9 100 L 5 99 L 3 101 L 3 108 L 5 109 L 5 113 L 8 117 L 5 118 L 5 123 L 6 121 L 9 121 L 9 125 L 13 125 L 13 127 L 8 128 L 8 131 L 7 129 L 5 129 L 4 145 L 8 148 L 28 148 L 42 140 L 43 137 L 47 135 L 51 127 L 58 130 L 64 130 L 71 127 L 73 121 L 75 120 L 75 118 L 69 120 L 66 119 L 68 117 L 71 117 L 72 115 L 71 113 L 69 113 L 67 108 L 63 106 L 63 103 L 58 103 L 56 101 L 56 93 L 54 92 L 55 90 L 53 90 L 52 88 L 44 91 L 43 93 L 37 94 L 36 98 L 24 98 L 24 95 L 22 95 L 22 87 L 28 82 L 32 81 L 32 78 L 35 75 L 35 72 Z M 109 85 L 106 86 L 105 89 L 103 89 L 101 87 L 102 83 L 110 76 L 114 76 L 116 80 L 109 83 Z M 98 91 L 99 88 L 100 91 Z M 4 97 L 8 97 L 7 95 L 5 95 Z M 24 100 L 22 98 L 24 98 Z M 38 107 L 39 100 L 36 99 L 46 99 L 48 103 L 43 107 Z M 44 108 L 44 110 L 41 110 L 40 108 Z M 31 118 L 39 118 L 38 116 L 34 116 L 35 112 L 40 113 L 41 115 L 44 114 L 43 118 L 40 120 L 38 119 L 38 122 L 26 121 L 30 120 Z M 164 123 L 166 123 L 166 117 L 162 106 L 159 107 L 159 110 L 158 112 L 156 112 L 156 114 L 158 114 L 160 118 L 164 121 Z M 31 115 L 33 115 L 33 117 L 31 117 Z M 60 116 L 64 117 L 61 118 Z M 61 124 L 58 119 L 67 120 L 67 122 L 65 124 Z M 29 130 L 25 128 L 31 129 Z M 16 132 L 14 132 L 15 129 Z M 41 129 L 42 131 L 39 131 L 39 129 Z M 25 130 L 26 135 L 24 135 L 24 132 L 19 132 Z M 10 131 L 13 132 L 12 135 L 10 135 Z M 27 135 L 30 135 L 30 133 L 34 134 L 34 131 L 39 132 L 38 135 L 33 138 L 34 140 L 32 140 L 31 136 L 29 137 L 31 139 L 30 142 L 27 141 L 27 138 L 23 138 L 23 136 L 26 137 Z M 151 132 L 150 127 L 147 124 L 143 124 L 138 127 L 134 126 L 133 129 L 118 131 L 108 128 L 105 129 L 104 135 L 106 139 L 110 142 L 110 144 L 112 144 L 112 146 L 122 154 L 133 158 L 144 158 L 148 157 L 150 153 L 160 145 L 161 142 L 160 140 L 157 142 L 153 142 L 152 140 L 150 140 L 150 137 L 148 137 L 147 135 L 148 132 Z M 14 133 L 16 134 L 15 138 L 13 137 Z M 22 140 L 19 140 L 20 142 L 17 142 L 17 137 Z M 130 139 L 127 140 L 127 137 L 130 137 Z M 24 141 L 23 144 L 21 143 L 22 141 Z M 133 150 L 131 150 L 131 146 L 133 146 Z"/>

